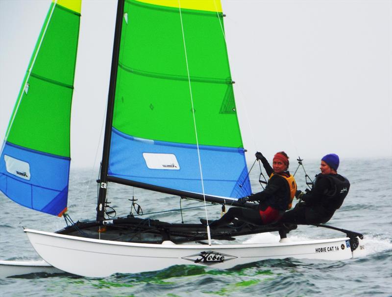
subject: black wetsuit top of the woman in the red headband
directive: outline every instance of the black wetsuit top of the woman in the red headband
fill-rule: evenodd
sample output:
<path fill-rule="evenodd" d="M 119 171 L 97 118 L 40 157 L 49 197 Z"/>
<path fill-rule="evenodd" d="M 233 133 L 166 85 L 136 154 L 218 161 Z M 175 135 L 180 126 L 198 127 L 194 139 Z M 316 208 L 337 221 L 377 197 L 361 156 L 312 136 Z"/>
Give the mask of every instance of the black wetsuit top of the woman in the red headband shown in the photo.
<path fill-rule="evenodd" d="M 271 176 L 273 169 L 266 158 L 261 159 L 268 176 Z M 271 206 L 279 211 L 286 211 L 290 203 L 290 186 L 286 179 L 281 176 L 290 177 L 288 171 L 274 174 L 268 181 L 264 191 L 249 196 L 249 201 L 260 201 L 260 208 L 265 209 Z"/>

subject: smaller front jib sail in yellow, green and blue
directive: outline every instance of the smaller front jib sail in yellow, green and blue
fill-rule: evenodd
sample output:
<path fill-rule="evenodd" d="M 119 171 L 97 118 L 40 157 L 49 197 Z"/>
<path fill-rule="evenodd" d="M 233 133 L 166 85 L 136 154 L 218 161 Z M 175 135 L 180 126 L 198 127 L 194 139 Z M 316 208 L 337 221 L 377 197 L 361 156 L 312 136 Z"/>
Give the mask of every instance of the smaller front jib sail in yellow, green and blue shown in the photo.
<path fill-rule="evenodd" d="M 2 145 L 0 190 L 61 216 L 67 209 L 70 117 L 81 0 L 53 0 Z"/>

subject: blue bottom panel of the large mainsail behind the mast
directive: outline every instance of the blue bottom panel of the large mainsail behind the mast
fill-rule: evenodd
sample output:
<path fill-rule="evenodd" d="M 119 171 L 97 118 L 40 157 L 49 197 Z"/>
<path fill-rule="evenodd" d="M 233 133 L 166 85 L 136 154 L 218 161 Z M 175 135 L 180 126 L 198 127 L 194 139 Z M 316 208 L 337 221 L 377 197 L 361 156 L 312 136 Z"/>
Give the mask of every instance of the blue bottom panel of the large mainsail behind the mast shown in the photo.
<path fill-rule="evenodd" d="M 251 194 L 243 148 L 199 146 L 204 194 Z M 112 129 L 109 175 L 187 192 L 203 193 L 197 147 L 132 137 Z"/>

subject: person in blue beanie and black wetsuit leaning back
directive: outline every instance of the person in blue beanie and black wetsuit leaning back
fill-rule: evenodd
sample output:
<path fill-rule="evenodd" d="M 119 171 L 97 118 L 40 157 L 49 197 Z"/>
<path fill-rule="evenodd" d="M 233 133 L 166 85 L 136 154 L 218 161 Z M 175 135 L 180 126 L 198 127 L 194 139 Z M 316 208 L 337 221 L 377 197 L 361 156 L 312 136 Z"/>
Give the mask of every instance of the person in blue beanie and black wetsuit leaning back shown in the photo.
<path fill-rule="evenodd" d="M 295 197 L 302 200 L 293 210 L 285 212 L 280 223 L 300 225 L 324 224 L 328 222 L 336 209 L 343 204 L 347 196 L 350 183 L 342 175 L 337 173 L 339 156 L 328 154 L 321 159 L 320 170 L 316 181 L 310 191 L 297 191 Z M 285 238 L 283 231 L 279 232 L 281 238 Z"/>

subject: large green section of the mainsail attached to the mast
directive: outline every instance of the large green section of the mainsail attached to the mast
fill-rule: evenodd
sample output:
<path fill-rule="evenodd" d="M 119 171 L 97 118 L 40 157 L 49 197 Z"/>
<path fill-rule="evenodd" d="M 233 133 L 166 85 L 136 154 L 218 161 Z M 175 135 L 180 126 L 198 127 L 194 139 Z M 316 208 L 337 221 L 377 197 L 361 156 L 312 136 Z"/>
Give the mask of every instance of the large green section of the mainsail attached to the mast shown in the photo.
<path fill-rule="evenodd" d="M 243 147 L 222 13 L 181 9 L 181 18 L 178 8 L 125 1 L 113 126 L 196 144 L 195 112 L 200 145 Z"/>

